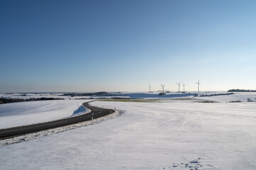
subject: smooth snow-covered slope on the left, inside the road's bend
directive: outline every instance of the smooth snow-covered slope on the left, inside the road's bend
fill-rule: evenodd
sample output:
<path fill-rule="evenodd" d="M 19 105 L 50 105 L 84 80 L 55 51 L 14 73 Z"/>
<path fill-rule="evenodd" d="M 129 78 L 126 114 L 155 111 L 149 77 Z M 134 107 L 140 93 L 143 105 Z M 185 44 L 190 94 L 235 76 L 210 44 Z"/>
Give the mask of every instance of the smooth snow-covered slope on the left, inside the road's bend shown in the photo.
<path fill-rule="evenodd" d="M 90 100 L 25 101 L 0 105 L 0 129 L 43 123 L 89 111 L 82 103 Z"/>

